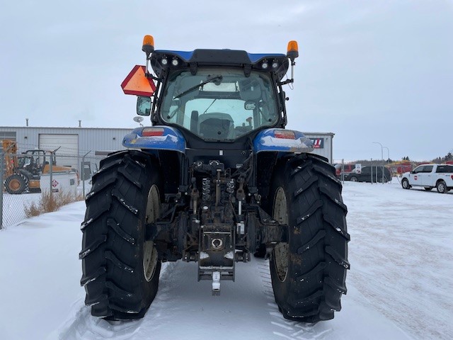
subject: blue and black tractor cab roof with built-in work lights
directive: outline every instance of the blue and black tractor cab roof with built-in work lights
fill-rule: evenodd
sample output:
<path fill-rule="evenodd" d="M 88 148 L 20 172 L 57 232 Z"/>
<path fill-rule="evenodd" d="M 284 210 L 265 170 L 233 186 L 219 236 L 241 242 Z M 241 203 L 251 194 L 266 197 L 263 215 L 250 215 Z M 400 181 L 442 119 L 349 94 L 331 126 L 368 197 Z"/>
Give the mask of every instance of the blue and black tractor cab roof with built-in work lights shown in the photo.
<path fill-rule="evenodd" d="M 173 60 L 176 60 L 175 64 Z M 273 72 L 280 81 L 287 72 L 289 61 L 283 54 L 248 53 L 241 50 L 155 50 L 151 55 L 151 67 L 158 77 L 161 77 L 164 69 L 196 69 L 205 66 L 243 67 Z"/>

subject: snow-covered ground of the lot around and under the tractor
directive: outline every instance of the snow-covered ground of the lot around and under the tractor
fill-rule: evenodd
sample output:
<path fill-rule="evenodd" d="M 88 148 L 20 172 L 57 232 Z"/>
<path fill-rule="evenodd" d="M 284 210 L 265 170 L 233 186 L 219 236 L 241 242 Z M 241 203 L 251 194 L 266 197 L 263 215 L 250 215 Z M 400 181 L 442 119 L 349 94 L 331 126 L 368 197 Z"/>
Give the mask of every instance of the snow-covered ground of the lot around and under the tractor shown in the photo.
<path fill-rule="evenodd" d="M 345 183 L 348 295 L 335 319 L 283 319 L 268 261 L 239 263 L 236 282 L 197 283 L 195 263 L 166 263 L 140 321 L 91 317 L 79 287 L 74 203 L 0 232 L 0 339 L 453 339 L 453 192 Z"/>

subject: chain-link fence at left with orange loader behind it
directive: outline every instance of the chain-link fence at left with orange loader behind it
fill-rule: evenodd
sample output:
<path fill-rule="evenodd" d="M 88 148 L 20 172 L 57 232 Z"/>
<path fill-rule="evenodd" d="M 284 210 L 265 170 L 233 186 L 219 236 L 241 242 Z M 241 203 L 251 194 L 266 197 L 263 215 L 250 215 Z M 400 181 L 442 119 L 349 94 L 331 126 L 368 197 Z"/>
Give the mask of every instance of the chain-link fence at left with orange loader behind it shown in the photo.
<path fill-rule="evenodd" d="M 35 150 L 0 154 L 0 229 L 25 220 L 49 200 L 81 200 L 91 188 L 91 176 L 105 157 Z M 35 214 L 38 215 L 38 214 Z"/>

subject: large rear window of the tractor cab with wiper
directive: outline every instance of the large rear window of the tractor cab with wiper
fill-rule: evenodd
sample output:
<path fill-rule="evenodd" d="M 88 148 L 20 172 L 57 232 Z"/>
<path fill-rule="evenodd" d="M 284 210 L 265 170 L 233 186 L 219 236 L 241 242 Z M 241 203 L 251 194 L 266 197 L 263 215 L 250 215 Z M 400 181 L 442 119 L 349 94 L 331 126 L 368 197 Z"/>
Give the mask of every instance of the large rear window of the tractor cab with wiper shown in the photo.
<path fill-rule="evenodd" d="M 206 141 L 236 140 L 278 123 L 278 100 L 268 74 L 241 69 L 173 70 L 161 92 L 157 120 Z"/>

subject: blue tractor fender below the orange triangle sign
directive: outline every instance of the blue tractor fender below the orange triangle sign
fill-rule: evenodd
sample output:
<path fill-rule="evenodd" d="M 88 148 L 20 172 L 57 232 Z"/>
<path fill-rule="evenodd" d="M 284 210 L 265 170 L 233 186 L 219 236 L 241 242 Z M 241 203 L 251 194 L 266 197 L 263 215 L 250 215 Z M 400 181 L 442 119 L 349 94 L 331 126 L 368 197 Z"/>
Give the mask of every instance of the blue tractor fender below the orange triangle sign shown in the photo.
<path fill-rule="evenodd" d="M 185 153 L 185 138 L 176 128 L 166 125 L 136 128 L 122 139 L 131 149 L 173 150 Z"/>

